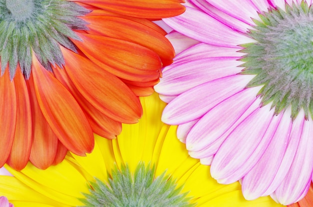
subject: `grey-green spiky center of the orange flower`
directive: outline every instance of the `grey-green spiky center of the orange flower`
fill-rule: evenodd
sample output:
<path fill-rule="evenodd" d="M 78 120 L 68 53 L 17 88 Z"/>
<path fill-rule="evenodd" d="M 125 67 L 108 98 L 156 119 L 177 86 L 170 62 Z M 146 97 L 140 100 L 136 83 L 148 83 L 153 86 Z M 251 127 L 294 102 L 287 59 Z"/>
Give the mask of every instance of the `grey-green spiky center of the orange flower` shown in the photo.
<path fill-rule="evenodd" d="M 28 79 L 33 52 L 47 70 L 62 67 L 59 45 L 76 52 L 70 38 L 80 40 L 73 29 L 88 29 L 77 17 L 88 12 L 67 0 L 0 0 L 1 75 L 8 65 L 12 79 L 19 64 Z"/>

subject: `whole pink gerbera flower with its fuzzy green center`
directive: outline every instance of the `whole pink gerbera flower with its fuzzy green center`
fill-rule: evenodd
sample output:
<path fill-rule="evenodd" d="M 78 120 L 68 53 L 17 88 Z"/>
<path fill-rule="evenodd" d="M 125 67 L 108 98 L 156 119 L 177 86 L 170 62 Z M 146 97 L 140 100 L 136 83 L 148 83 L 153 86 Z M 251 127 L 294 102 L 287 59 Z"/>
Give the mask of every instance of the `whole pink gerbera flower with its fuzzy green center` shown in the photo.
<path fill-rule="evenodd" d="M 301 200 L 313 169 L 311 1 L 189 0 L 164 19 L 200 43 L 162 70 L 162 121 L 244 198 Z"/>

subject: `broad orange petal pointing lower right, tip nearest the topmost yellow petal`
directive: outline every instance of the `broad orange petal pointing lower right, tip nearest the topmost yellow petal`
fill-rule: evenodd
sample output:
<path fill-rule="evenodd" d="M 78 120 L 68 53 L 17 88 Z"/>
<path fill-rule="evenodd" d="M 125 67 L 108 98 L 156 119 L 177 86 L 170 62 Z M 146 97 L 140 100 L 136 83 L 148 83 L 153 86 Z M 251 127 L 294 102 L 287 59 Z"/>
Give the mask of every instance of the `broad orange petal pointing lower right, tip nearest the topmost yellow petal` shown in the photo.
<path fill-rule="evenodd" d="M 108 117 L 123 123 L 136 123 L 142 115 L 139 99 L 112 74 L 87 58 L 61 47 L 65 70 L 82 96 Z"/>

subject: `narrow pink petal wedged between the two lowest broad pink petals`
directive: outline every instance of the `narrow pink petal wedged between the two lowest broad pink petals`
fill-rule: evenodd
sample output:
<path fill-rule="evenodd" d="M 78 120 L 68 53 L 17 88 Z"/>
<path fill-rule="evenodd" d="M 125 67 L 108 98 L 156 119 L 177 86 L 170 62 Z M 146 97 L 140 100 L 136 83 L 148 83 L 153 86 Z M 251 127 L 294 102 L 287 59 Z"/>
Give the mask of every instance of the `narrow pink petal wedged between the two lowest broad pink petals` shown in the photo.
<path fill-rule="evenodd" d="M 276 172 L 275 177 L 271 182 L 270 186 L 266 189 L 263 195 L 267 196 L 274 192 L 286 177 L 292 164 L 291 161 L 294 159 L 296 150 L 299 145 L 303 124 L 304 124 L 304 112 L 302 110 L 299 112 L 298 116 L 292 122 L 287 148 L 281 160 L 279 169 Z"/>

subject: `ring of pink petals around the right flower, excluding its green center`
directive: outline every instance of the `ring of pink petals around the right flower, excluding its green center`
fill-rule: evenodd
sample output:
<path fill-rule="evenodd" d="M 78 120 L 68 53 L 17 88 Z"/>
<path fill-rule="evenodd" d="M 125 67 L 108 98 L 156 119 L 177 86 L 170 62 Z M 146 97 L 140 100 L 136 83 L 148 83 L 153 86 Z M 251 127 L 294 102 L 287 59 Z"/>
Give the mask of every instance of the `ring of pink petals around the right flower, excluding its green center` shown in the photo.
<path fill-rule="evenodd" d="M 243 63 L 247 50 L 240 46 L 255 41 L 247 35 L 253 19 L 292 3 L 301 1 L 188 0 L 186 12 L 164 19 L 179 37 L 169 40 L 181 46 L 154 87 L 168 103 L 162 121 L 179 125 L 178 139 L 191 157 L 211 165 L 213 178 L 224 184 L 241 180 L 245 199 L 271 195 L 284 205 L 300 201 L 311 184 L 313 122 L 303 111 L 290 118 L 294 109 L 287 106 L 274 113 L 273 99 L 265 103 L 259 97 L 263 85 L 245 84 L 253 77 L 240 73 L 246 65 L 234 62 Z"/>

